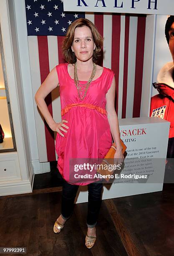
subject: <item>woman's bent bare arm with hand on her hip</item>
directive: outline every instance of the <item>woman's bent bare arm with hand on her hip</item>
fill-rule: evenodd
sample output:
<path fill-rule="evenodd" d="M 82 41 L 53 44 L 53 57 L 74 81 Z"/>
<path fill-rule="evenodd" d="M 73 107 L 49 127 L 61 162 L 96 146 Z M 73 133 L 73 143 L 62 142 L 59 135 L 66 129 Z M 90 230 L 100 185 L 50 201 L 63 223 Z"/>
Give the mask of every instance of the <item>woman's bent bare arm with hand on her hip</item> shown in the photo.
<path fill-rule="evenodd" d="M 35 94 L 35 102 L 38 105 L 38 108 L 40 110 L 40 112 L 42 113 L 43 117 L 45 118 L 46 122 L 48 123 L 49 127 L 53 130 L 53 131 L 57 131 L 59 132 L 62 136 L 64 136 L 59 129 L 61 129 L 62 131 L 67 132 L 65 129 L 63 129 L 61 126 L 64 126 L 66 128 L 69 128 L 67 125 L 63 124 L 63 123 L 55 123 L 55 121 L 53 120 L 48 107 L 46 105 L 45 102 L 45 97 L 53 90 L 55 89 L 59 84 L 58 81 L 58 75 L 57 75 L 57 71 L 56 71 L 56 67 L 53 68 L 50 73 L 48 74 L 48 76 L 46 77 L 45 81 L 40 85 L 39 89 L 37 90 L 36 94 Z M 62 120 L 62 122 L 64 122 L 66 120 Z M 66 121 L 67 123 L 68 121 Z"/>

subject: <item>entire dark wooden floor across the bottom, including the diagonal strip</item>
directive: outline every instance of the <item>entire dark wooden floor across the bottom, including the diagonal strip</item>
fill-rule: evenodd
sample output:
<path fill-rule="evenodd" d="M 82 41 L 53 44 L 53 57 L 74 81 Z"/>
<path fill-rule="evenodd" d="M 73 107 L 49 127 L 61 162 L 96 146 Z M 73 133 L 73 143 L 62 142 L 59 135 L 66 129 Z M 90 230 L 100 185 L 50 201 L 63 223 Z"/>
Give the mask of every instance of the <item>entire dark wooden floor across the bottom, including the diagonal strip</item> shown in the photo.
<path fill-rule="evenodd" d="M 91 249 L 84 244 L 87 203 L 75 204 L 73 216 L 55 234 L 60 209 L 61 186 L 44 188 L 41 181 L 33 193 L 0 197 L 0 247 L 26 247 L 20 255 L 31 256 L 174 255 L 174 184 L 164 184 L 161 192 L 103 200 Z"/>

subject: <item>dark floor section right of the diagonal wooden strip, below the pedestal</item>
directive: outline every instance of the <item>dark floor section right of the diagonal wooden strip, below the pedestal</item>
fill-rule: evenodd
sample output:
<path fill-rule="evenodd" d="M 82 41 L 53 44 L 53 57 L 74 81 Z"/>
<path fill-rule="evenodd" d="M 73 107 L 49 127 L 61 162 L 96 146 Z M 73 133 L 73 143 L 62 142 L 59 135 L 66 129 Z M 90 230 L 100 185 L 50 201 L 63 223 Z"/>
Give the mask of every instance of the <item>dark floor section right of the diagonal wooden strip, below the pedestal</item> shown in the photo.
<path fill-rule="evenodd" d="M 174 255 L 174 186 L 162 192 L 114 198 L 112 202 L 119 212 L 118 221 L 121 216 L 137 248 L 145 249 L 150 256 Z"/>

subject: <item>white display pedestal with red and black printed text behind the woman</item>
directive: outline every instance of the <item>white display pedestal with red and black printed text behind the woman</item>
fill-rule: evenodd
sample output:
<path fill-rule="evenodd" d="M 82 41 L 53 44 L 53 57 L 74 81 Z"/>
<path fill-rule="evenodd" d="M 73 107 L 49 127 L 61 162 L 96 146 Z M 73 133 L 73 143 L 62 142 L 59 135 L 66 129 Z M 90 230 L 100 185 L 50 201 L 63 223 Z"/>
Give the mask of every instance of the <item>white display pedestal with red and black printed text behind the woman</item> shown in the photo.
<path fill-rule="evenodd" d="M 116 179 L 103 184 L 102 199 L 161 191 L 170 123 L 158 117 L 119 120 L 120 137 L 127 146 L 124 169 L 120 174 L 148 174 L 145 179 Z M 149 164 L 150 163 L 150 164 Z M 151 165 L 151 166 L 149 166 Z M 87 186 L 81 186 L 76 203 L 88 202 Z"/>

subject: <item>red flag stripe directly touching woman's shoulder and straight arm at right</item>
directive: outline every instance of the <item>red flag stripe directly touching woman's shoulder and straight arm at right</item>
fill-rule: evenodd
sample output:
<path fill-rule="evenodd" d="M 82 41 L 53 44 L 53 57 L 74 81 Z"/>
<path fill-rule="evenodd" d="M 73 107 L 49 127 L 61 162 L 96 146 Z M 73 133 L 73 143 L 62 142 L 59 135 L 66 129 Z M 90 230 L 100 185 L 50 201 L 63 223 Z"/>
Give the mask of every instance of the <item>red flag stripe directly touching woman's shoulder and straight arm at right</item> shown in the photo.
<path fill-rule="evenodd" d="M 116 79 L 115 108 L 116 108 L 117 115 L 118 115 L 118 98 L 119 98 L 120 33 L 121 33 L 121 15 L 113 13 L 111 69 L 115 73 L 115 79 Z"/>

